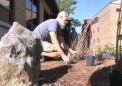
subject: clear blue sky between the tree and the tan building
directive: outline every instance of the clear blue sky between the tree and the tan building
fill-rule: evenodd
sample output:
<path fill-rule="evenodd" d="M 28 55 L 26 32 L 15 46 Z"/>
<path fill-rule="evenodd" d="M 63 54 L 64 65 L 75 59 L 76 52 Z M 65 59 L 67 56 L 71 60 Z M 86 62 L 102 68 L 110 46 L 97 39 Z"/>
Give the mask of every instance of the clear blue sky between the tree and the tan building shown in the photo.
<path fill-rule="evenodd" d="M 100 12 L 106 5 L 114 0 L 74 0 L 77 1 L 74 14 L 70 14 L 70 17 L 79 19 L 83 23 L 84 19 L 91 19 L 98 12 Z M 75 27 L 77 33 L 81 33 L 81 27 Z"/>

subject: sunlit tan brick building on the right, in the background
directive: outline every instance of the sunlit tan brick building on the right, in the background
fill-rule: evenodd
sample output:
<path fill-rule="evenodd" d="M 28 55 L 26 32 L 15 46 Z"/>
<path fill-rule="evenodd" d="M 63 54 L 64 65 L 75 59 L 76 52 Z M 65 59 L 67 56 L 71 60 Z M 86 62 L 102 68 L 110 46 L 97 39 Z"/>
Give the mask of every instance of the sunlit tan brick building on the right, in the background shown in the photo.
<path fill-rule="evenodd" d="M 117 21 L 120 12 L 121 0 L 110 2 L 92 20 L 90 47 L 97 49 L 98 45 L 102 47 L 116 45 Z"/>

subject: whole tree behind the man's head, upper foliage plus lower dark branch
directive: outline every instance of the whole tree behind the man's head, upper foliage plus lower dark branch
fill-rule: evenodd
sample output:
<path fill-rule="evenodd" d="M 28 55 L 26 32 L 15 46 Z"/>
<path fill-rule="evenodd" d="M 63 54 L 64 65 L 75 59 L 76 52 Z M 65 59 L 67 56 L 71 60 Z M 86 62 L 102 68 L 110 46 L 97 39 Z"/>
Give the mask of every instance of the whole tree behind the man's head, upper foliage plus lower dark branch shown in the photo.
<path fill-rule="evenodd" d="M 76 9 L 76 7 L 71 7 L 72 5 L 75 5 L 77 3 L 77 1 L 74 1 L 74 0 L 57 0 L 57 3 L 59 5 L 59 8 L 62 10 L 62 11 L 65 11 L 69 14 L 74 14 L 74 10 Z M 74 19 L 72 18 L 72 25 L 74 27 L 78 27 L 78 26 L 81 26 L 81 22 L 78 20 L 78 19 Z"/>

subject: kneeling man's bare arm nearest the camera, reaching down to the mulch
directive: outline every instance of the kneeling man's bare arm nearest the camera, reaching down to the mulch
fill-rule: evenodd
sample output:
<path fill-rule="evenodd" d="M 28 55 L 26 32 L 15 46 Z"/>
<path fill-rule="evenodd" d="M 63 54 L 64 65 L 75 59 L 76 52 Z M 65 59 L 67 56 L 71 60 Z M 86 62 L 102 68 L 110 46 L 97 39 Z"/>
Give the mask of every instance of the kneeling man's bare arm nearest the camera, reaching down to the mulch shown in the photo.
<path fill-rule="evenodd" d="M 50 31 L 49 34 L 50 34 L 50 37 L 51 37 L 51 42 L 53 43 L 54 47 L 60 53 L 60 55 L 61 55 L 62 59 L 64 60 L 64 62 L 68 63 L 69 58 L 65 55 L 65 53 L 61 49 L 61 46 L 60 46 L 59 41 L 57 39 L 57 34 L 53 31 Z"/>

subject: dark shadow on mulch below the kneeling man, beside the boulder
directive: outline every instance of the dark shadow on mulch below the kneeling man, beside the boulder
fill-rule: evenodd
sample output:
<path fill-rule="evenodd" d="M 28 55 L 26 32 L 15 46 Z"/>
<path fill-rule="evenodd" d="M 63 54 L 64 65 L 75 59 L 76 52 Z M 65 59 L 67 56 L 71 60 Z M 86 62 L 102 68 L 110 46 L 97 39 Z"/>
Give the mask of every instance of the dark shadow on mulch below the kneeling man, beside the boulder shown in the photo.
<path fill-rule="evenodd" d="M 60 77 L 64 76 L 68 73 L 68 69 L 72 68 L 71 65 L 64 65 L 61 67 L 49 69 L 49 70 L 41 70 L 39 76 L 39 85 L 43 84 L 51 84 L 55 83 Z"/>

